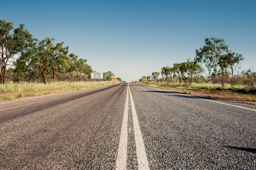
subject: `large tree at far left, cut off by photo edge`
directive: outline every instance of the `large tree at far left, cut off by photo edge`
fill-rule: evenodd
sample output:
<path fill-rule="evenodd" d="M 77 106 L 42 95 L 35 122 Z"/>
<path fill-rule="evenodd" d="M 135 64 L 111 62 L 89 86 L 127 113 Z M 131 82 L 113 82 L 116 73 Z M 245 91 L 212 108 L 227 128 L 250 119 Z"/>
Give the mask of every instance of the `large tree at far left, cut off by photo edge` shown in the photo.
<path fill-rule="evenodd" d="M 28 46 L 34 45 L 32 34 L 24 28 L 24 24 L 20 24 L 10 35 L 13 28 L 13 22 L 7 22 L 5 19 L 0 20 L 0 74 L 3 84 L 5 84 L 6 67 L 10 65 L 10 60 L 14 58 L 15 54 L 20 54 Z"/>

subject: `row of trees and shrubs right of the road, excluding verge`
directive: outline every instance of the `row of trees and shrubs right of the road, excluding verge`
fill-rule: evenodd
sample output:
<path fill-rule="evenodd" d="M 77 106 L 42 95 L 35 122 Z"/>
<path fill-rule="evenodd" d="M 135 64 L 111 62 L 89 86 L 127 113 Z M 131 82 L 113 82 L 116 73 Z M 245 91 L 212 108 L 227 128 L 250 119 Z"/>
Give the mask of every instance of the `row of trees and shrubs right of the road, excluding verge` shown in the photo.
<path fill-rule="evenodd" d="M 196 49 L 196 57 L 193 60 L 174 63 L 172 67 L 162 67 L 161 73 L 154 71 L 152 76 L 162 74 L 162 79 L 158 81 L 169 83 L 220 83 L 222 86 L 231 84 L 232 87 L 235 84 L 244 84 L 249 88 L 255 88 L 256 72 L 249 69 L 240 73 L 238 68 L 244 58 L 242 54 L 234 53 L 228 47 L 223 39 L 207 38 L 203 48 Z M 208 70 L 207 77 L 203 76 L 207 70 L 203 69 L 202 63 Z M 139 82 L 148 81 L 148 78 L 149 76 L 143 76 Z"/>

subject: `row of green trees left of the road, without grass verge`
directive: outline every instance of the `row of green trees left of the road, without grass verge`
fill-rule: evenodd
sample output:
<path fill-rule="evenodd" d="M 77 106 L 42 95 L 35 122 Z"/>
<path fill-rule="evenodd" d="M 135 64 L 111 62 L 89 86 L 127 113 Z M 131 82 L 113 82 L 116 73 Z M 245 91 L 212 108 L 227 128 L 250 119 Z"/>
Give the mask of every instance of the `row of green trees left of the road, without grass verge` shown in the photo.
<path fill-rule="evenodd" d="M 68 54 L 64 42 L 54 44 L 53 38 L 35 39 L 20 24 L 14 29 L 13 22 L 0 20 L 0 80 L 6 82 L 53 82 L 90 80 L 93 73 L 87 59 L 79 58 L 75 53 Z M 19 55 L 15 58 L 15 55 Z M 9 67 L 8 67 L 9 66 Z M 12 67 L 10 67 L 12 66 Z M 112 80 L 112 71 L 104 73 L 104 80 Z M 117 78 L 121 81 L 121 78 Z"/>

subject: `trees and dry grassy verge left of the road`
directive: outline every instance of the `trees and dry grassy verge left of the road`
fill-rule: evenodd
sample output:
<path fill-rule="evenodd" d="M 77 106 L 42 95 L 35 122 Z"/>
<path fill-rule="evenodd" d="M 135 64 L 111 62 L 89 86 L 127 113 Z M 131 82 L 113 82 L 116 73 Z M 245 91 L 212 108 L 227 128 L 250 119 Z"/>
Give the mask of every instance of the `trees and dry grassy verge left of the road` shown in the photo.
<path fill-rule="evenodd" d="M 38 40 L 24 24 L 0 20 L 0 101 L 57 92 L 84 90 L 122 82 L 114 73 L 103 73 L 102 81 L 91 79 L 96 73 L 87 59 L 69 52 L 64 41 Z M 92 86 L 93 81 L 93 86 Z"/>

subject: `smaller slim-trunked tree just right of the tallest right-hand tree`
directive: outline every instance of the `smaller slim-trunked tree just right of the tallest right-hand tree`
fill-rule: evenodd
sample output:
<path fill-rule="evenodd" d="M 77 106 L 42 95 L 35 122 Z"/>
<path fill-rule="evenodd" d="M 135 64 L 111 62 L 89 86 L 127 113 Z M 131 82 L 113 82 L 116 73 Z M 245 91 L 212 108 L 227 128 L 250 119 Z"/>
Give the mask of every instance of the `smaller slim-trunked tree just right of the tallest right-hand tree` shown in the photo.
<path fill-rule="evenodd" d="M 225 61 L 227 62 L 227 65 L 230 69 L 231 73 L 231 86 L 234 86 L 234 70 L 237 69 L 237 66 L 240 65 L 240 62 L 243 61 L 243 56 L 242 54 L 234 53 L 234 52 L 229 52 L 228 54 L 225 55 Z"/>

